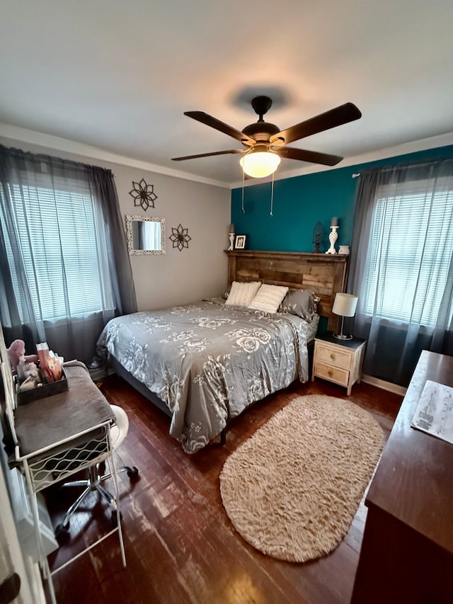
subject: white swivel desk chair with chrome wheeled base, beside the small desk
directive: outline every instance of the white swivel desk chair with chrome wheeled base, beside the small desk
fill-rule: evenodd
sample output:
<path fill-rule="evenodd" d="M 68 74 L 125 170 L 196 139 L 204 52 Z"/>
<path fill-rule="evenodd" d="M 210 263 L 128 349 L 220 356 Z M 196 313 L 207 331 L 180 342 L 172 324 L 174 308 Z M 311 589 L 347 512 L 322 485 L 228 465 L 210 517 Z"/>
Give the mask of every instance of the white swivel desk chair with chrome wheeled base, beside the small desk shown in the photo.
<path fill-rule="evenodd" d="M 112 443 L 113 453 L 120 447 L 122 441 L 125 440 L 127 431 L 129 430 L 129 418 L 124 409 L 117 405 L 111 405 L 113 413 L 115 414 L 115 423 L 110 428 L 110 440 Z M 101 482 L 110 478 L 112 476 L 111 472 L 107 474 L 103 474 L 105 470 L 105 462 L 101 464 L 95 464 L 88 468 L 88 478 L 86 480 L 74 480 L 71 482 L 65 482 L 62 486 L 83 486 L 84 491 L 81 492 L 79 497 L 76 498 L 76 501 L 71 505 L 68 509 L 66 515 L 62 523 L 57 525 L 55 528 L 55 537 L 57 540 L 62 538 L 62 533 L 66 532 L 69 529 L 69 523 L 71 520 L 71 516 L 77 511 L 84 498 L 91 493 L 91 491 L 98 491 L 98 493 L 108 501 L 108 505 L 110 506 L 110 510 L 112 511 L 112 522 L 113 525 L 117 524 L 117 502 L 115 496 L 113 496 L 107 489 L 105 489 Z M 116 468 L 116 473 L 127 472 L 127 476 L 130 479 L 137 478 L 139 471 L 133 466 L 122 466 Z"/>

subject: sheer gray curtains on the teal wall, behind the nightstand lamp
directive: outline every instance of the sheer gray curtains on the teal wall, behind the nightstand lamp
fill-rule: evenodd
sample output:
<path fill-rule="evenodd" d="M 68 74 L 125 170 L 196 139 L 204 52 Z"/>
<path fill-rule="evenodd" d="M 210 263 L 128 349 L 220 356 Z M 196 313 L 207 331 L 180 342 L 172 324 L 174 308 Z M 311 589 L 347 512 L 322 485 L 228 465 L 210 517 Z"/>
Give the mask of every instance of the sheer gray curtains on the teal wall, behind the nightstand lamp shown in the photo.
<path fill-rule="evenodd" d="M 453 160 L 371 169 L 362 171 L 359 178 L 348 278 L 348 292 L 357 294 L 359 301 L 355 317 L 349 320 L 348 329 L 351 329 L 355 336 L 368 340 L 363 371 L 368 375 L 406 387 L 421 351 L 453 354 L 453 255 L 452 244 L 450 244 L 453 232 L 451 211 Z M 396 214 L 395 200 L 399 203 L 403 197 L 406 200 L 416 199 L 418 203 L 416 208 L 414 205 L 413 212 L 408 215 L 406 232 L 401 231 L 401 220 L 397 222 L 391 213 Z M 387 212 L 385 220 L 388 227 L 387 230 L 382 229 L 379 233 L 375 232 L 377 225 L 373 222 L 378 199 L 383 206 L 382 212 Z M 439 203 L 439 199 L 442 203 Z M 387 204 L 388 200 L 391 203 Z M 420 208 L 423 208 L 425 213 L 423 224 L 415 220 L 420 214 Z M 441 229 L 437 228 L 440 224 L 442 224 Z M 434 239 L 438 241 L 439 249 L 432 247 L 433 228 L 438 230 L 438 237 L 435 234 Z M 395 238 L 396 229 L 399 229 L 398 237 L 401 240 L 399 274 L 396 280 L 394 278 L 392 287 L 379 288 L 378 286 L 374 291 L 370 285 L 372 282 L 370 272 L 379 274 L 379 283 L 383 281 L 389 283 L 391 280 L 387 275 L 391 270 L 389 249 L 391 249 L 391 237 Z M 429 229 L 431 229 L 430 243 Z M 373 236 L 374 254 L 371 258 Z M 410 245 L 414 241 L 418 241 L 415 252 Z M 430 245 L 430 254 L 426 253 L 428 245 Z M 397 249 L 395 243 L 392 249 Z M 405 254 L 410 254 L 408 262 L 412 267 L 410 275 L 406 270 Z M 416 261 L 415 256 L 417 256 Z M 427 269 L 428 256 L 432 266 L 428 266 Z M 442 275 L 437 273 L 436 268 L 439 259 L 442 259 L 445 264 Z M 408 287 L 408 276 L 411 277 L 412 285 L 415 283 L 414 287 Z M 408 290 L 411 292 L 409 293 Z M 371 291 L 372 300 L 369 299 Z M 432 292 L 439 291 L 442 300 L 440 305 L 435 307 L 436 310 L 432 311 L 430 307 Z M 387 297 L 389 302 L 389 296 L 394 297 L 392 301 L 396 308 L 394 317 L 386 317 L 385 312 L 382 311 L 386 306 L 385 298 Z M 437 302 L 438 298 L 439 296 Z M 398 304 L 407 311 L 407 320 L 395 318 L 398 314 Z M 428 315 L 430 320 L 427 321 Z"/>

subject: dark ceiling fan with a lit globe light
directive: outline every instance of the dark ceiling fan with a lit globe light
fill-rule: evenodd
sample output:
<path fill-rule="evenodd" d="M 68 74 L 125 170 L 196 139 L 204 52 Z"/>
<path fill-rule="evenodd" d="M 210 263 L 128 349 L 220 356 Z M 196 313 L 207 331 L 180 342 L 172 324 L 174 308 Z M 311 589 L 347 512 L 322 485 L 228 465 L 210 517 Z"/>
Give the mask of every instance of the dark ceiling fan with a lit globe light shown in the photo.
<path fill-rule="evenodd" d="M 353 103 L 345 103 L 326 111 L 326 113 L 316 115 L 314 118 L 300 122 L 285 130 L 280 130 L 275 124 L 263 120 L 263 115 L 272 106 L 272 100 L 268 96 L 256 96 L 251 101 L 251 105 L 258 115 L 258 121 L 246 126 L 242 131 L 236 130 L 236 128 L 217 120 L 217 118 L 213 118 L 212 115 L 208 115 L 204 111 L 185 111 L 184 115 L 188 115 L 189 118 L 239 140 L 243 144 L 243 149 L 228 149 L 227 151 L 173 157 L 172 159 L 182 161 L 212 155 L 242 154 L 240 164 L 243 171 L 248 176 L 255 178 L 269 176 L 275 172 L 282 157 L 325 166 L 335 166 L 343 157 L 286 147 L 286 145 L 362 117 L 362 113 Z"/>

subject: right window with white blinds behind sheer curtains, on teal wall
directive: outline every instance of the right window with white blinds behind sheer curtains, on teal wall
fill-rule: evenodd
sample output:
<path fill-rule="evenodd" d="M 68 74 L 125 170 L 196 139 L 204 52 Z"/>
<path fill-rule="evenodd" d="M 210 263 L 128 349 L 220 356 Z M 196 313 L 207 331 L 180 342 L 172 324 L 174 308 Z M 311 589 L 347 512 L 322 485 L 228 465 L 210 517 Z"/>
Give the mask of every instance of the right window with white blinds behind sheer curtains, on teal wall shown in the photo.
<path fill-rule="evenodd" d="M 447 180 L 378 188 L 362 287 L 365 314 L 435 326 L 452 262 L 452 214 Z"/>

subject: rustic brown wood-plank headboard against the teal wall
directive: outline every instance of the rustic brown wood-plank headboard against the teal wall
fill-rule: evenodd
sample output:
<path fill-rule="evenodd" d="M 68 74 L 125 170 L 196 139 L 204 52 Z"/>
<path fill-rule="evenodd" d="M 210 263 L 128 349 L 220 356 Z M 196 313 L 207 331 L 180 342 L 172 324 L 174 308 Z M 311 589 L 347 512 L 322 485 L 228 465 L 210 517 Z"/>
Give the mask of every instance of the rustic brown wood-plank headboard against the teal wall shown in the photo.
<path fill-rule="evenodd" d="M 328 318 L 328 329 L 338 326 L 338 315 L 332 313 L 337 292 L 343 292 L 348 256 L 328 253 L 293 251 L 226 250 L 228 283 L 261 281 L 286 285 L 299 290 L 312 290 L 320 298 L 318 312 Z"/>

